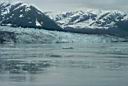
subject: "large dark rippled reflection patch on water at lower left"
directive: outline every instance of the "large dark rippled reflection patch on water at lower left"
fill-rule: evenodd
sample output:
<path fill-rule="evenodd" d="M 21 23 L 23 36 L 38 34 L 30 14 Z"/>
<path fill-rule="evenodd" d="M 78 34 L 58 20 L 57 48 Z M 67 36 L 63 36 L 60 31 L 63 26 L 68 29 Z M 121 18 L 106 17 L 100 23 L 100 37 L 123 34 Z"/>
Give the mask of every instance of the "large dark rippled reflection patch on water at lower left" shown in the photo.
<path fill-rule="evenodd" d="M 47 61 L 20 61 L 20 60 L 0 60 L 0 72 L 9 73 L 36 73 L 43 71 L 44 68 L 50 66 Z"/>

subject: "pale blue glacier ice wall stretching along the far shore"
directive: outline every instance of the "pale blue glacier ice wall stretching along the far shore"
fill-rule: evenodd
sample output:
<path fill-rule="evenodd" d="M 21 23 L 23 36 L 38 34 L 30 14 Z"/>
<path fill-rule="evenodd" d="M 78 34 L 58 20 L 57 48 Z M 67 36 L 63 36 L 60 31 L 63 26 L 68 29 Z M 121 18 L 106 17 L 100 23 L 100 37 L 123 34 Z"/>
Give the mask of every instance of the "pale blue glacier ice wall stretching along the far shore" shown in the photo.
<path fill-rule="evenodd" d="M 13 28 L 8 26 L 0 27 L 1 43 L 18 44 L 60 44 L 60 43 L 109 43 L 127 41 L 125 38 L 108 35 L 88 35 L 77 33 L 66 33 L 59 31 L 48 31 L 34 28 Z"/>

